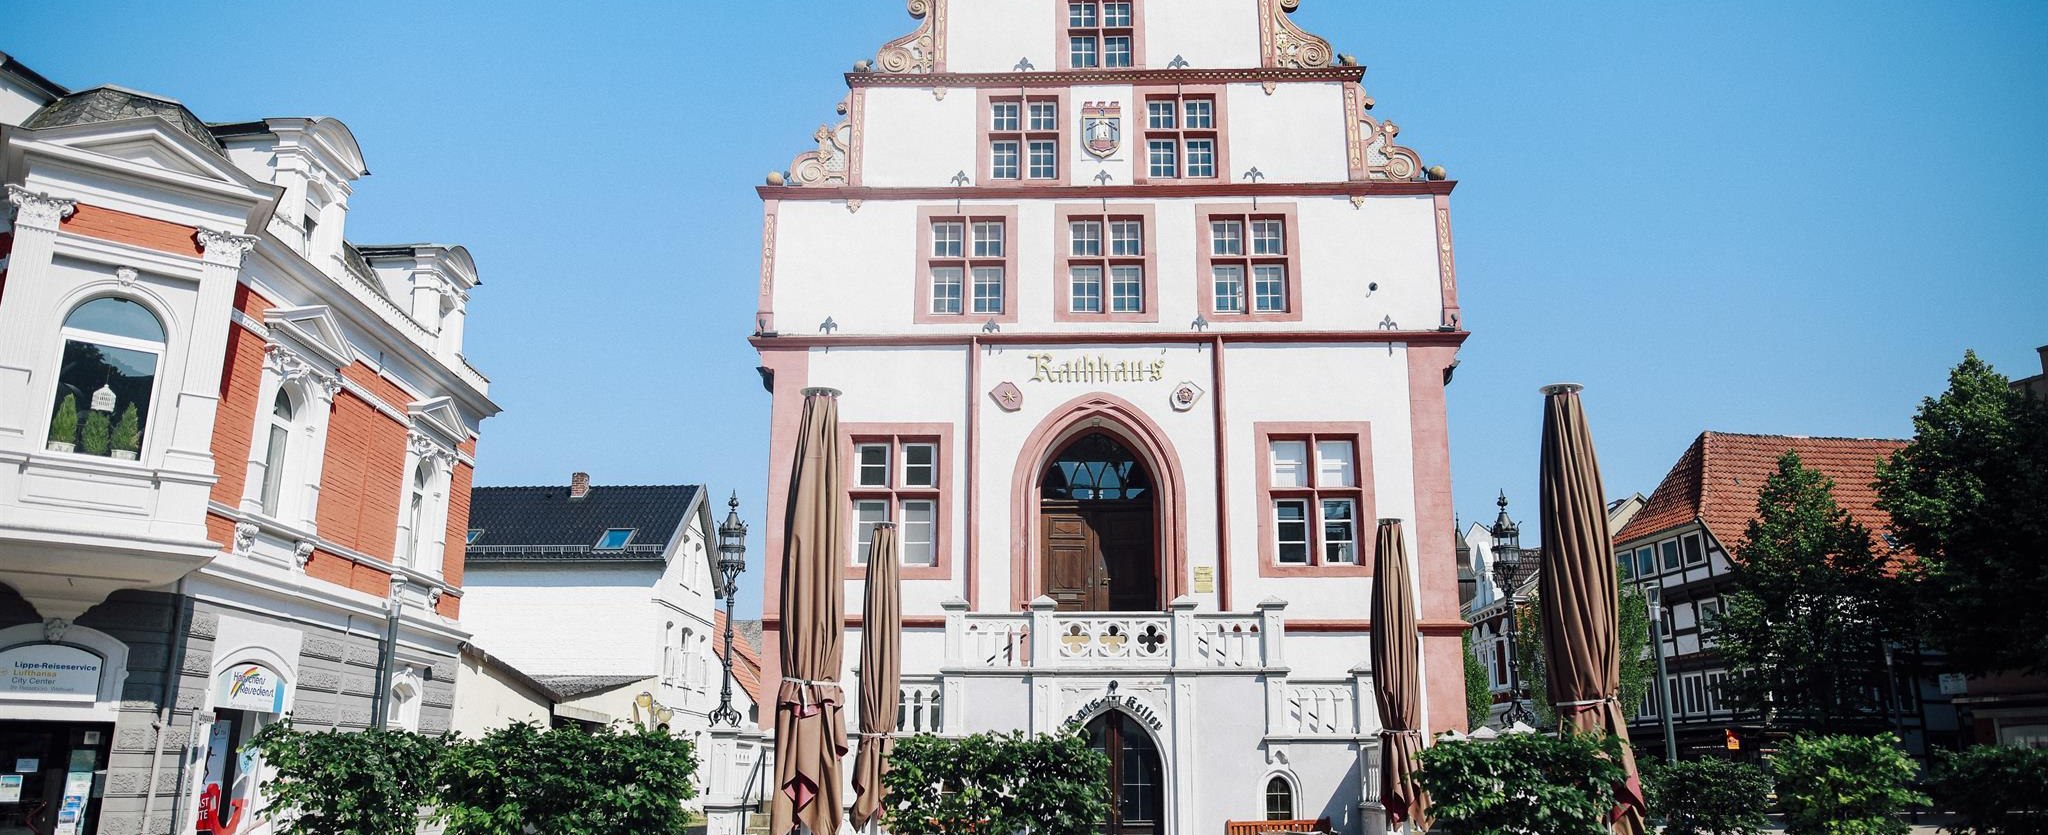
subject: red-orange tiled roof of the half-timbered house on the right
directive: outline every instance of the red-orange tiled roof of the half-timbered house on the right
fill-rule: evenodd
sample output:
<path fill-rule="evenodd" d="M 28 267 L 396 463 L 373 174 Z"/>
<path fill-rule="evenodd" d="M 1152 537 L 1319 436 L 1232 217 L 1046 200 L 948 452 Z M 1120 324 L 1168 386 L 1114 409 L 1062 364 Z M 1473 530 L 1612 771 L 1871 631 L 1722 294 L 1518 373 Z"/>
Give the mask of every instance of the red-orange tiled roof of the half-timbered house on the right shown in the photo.
<path fill-rule="evenodd" d="M 1882 534 L 1892 520 L 1878 510 L 1878 463 L 1903 446 L 1905 440 L 1890 438 L 1702 432 L 1665 473 L 1642 512 L 1614 534 L 1614 542 L 1655 536 L 1700 518 L 1720 546 L 1739 548 L 1749 520 L 1757 518 L 1757 493 L 1778 473 L 1778 458 L 1786 452 L 1798 452 L 1800 465 L 1833 479 L 1835 503 L 1872 534 Z"/>

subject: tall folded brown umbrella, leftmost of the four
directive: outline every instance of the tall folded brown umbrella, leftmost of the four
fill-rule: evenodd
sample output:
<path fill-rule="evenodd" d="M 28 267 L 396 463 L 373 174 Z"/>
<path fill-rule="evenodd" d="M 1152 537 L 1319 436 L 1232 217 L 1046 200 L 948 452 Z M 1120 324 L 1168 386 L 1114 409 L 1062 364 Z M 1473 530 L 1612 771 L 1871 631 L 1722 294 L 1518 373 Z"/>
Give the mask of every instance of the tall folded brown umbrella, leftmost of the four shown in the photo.
<path fill-rule="evenodd" d="M 840 501 L 840 393 L 805 389 L 782 540 L 782 688 L 774 704 L 770 831 L 840 831 L 840 651 L 846 641 L 846 510 Z"/>

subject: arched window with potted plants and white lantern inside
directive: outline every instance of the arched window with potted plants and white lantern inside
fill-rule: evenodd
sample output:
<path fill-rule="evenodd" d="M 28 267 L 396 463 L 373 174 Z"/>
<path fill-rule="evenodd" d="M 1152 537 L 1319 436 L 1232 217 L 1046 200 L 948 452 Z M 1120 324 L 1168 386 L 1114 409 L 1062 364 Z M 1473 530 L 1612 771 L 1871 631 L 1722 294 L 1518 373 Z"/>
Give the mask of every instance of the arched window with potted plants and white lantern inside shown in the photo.
<path fill-rule="evenodd" d="M 47 448 L 141 458 L 164 362 L 164 321 L 137 301 L 98 297 L 63 317 L 61 336 Z"/>

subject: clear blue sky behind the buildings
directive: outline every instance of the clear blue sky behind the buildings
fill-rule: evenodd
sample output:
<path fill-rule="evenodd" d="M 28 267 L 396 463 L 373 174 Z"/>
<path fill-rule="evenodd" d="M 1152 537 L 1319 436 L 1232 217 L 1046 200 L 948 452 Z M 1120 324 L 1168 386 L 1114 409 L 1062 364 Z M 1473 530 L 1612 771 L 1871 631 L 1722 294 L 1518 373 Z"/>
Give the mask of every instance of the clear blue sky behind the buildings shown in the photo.
<path fill-rule="evenodd" d="M 709 483 L 760 528 L 754 184 L 909 29 L 901 2 L 4 16 L 0 51 L 72 88 L 346 121 L 373 172 L 348 235 L 465 244 L 483 272 L 467 352 L 506 413 L 479 483 Z M 1903 436 L 1964 348 L 2040 370 L 2048 4 L 1307 0 L 1296 20 L 1460 180 L 1466 522 L 1501 487 L 1534 506 L 1542 383 L 1587 385 L 1610 493 L 1649 493 L 1700 430 Z"/>

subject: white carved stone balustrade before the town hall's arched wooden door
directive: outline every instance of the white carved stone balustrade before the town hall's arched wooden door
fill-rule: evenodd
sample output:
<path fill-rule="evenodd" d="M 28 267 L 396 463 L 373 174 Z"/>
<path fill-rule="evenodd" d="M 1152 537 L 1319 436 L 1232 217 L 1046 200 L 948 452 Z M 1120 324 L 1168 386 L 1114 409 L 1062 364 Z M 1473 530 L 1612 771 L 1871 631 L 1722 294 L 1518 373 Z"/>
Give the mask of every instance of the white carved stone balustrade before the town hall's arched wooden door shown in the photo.
<path fill-rule="evenodd" d="M 1167 612 L 1059 612 L 1038 598 L 1028 614 L 967 612 L 946 602 L 946 665 L 1266 669 L 1282 663 L 1282 602 L 1253 614 L 1202 612 L 1182 598 Z"/>

